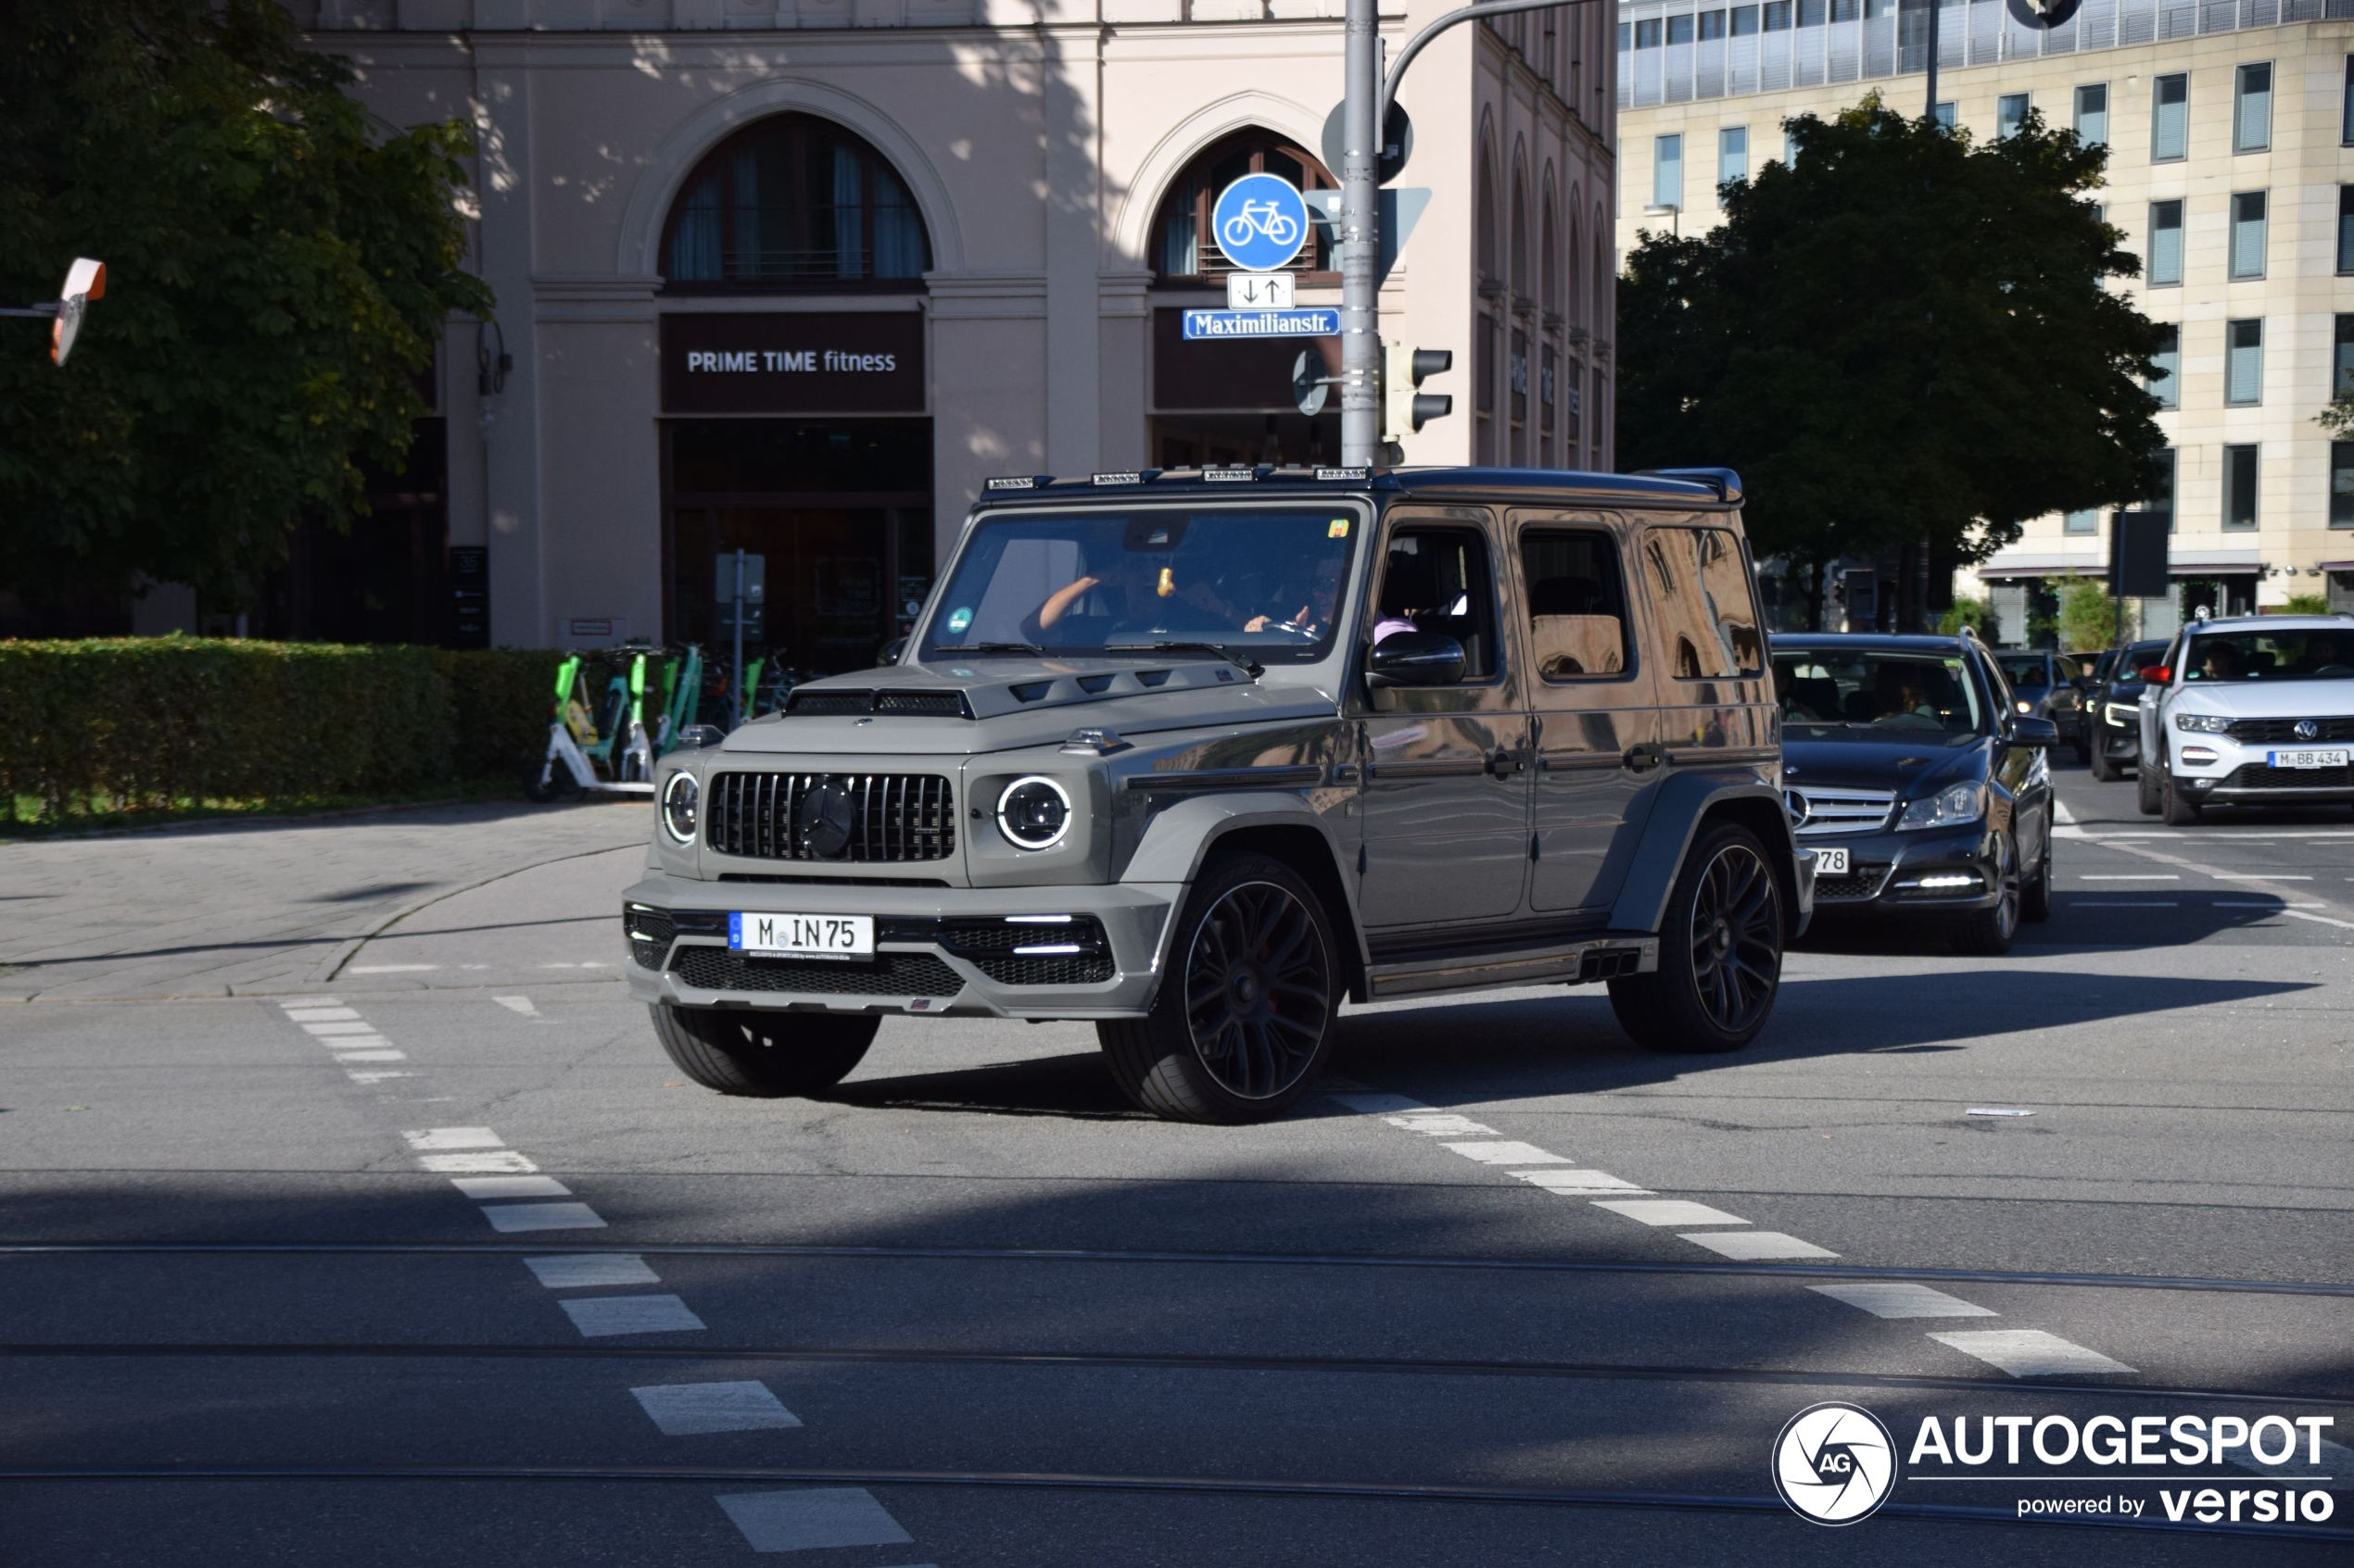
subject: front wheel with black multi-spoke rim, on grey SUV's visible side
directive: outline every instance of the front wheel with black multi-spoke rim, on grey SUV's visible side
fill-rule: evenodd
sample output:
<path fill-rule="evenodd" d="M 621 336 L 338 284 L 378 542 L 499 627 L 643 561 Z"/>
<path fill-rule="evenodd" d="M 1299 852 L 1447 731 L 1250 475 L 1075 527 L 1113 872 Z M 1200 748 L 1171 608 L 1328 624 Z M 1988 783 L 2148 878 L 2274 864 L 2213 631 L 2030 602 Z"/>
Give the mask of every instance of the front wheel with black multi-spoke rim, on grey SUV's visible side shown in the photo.
<path fill-rule="evenodd" d="M 1342 990 L 1316 889 L 1269 856 L 1215 856 L 1177 917 L 1153 1011 L 1099 1023 L 1095 1037 L 1139 1110 L 1168 1121 L 1274 1121 L 1323 1070 Z"/>

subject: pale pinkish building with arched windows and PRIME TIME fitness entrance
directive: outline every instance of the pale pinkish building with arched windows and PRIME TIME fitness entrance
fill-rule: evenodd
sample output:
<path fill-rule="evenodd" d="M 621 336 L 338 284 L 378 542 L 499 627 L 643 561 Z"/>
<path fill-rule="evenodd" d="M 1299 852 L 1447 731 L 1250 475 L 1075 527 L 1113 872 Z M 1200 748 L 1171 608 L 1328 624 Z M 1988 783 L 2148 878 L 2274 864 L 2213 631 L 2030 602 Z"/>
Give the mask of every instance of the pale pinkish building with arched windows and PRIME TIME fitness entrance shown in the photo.
<path fill-rule="evenodd" d="M 1396 49 L 1445 9 L 1384 0 Z M 765 559 L 786 665 L 866 665 L 986 475 L 1337 461 L 1337 339 L 1186 341 L 1208 205 L 1335 188 L 1339 0 L 320 0 L 388 125 L 478 136 L 497 320 L 438 371 L 445 545 L 501 644 L 716 642 Z M 1401 89 L 1382 331 L 1455 350 L 1408 461 L 1608 468 L 1608 16 L 1457 28 Z M 1290 268 L 1337 306 L 1332 237 Z M 464 639 L 464 635 L 459 637 Z"/>

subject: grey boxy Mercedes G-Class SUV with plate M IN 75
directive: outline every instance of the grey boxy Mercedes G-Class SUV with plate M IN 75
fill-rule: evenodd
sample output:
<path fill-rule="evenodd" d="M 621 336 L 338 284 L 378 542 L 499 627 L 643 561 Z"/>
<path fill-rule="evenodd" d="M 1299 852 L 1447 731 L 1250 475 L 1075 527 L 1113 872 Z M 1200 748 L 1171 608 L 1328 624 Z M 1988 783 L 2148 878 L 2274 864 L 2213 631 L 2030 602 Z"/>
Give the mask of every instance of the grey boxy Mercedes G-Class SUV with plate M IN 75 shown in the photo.
<path fill-rule="evenodd" d="M 626 971 L 697 1084 L 1083 1018 L 1259 1121 L 1344 997 L 1596 980 L 1730 1051 L 1813 905 L 1723 470 L 991 480 L 887 658 L 661 762 Z"/>

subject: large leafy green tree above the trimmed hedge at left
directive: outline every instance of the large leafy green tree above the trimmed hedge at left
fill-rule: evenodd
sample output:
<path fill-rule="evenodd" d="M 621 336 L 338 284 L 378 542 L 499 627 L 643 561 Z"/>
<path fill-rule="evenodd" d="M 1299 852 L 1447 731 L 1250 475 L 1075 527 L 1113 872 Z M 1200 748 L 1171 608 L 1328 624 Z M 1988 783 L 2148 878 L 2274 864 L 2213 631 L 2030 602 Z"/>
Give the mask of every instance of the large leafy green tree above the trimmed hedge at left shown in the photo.
<path fill-rule="evenodd" d="M 384 134 L 275 0 L 26 0 L 0 54 L 0 294 L 106 261 L 73 360 L 0 334 L 0 581 L 235 595 L 398 470 L 454 310 L 466 134 Z"/>

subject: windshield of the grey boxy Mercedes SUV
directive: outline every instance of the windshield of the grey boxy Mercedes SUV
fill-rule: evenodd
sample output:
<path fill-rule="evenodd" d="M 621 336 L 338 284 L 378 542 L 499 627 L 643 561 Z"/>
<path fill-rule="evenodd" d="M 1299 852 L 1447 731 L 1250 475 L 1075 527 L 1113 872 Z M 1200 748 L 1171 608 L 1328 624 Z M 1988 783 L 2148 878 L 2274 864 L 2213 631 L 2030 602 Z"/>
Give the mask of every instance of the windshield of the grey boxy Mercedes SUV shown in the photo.
<path fill-rule="evenodd" d="M 1205 642 L 1262 663 L 1332 646 L 1351 505 L 989 517 L 956 562 L 925 656 L 1088 656 Z"/>

